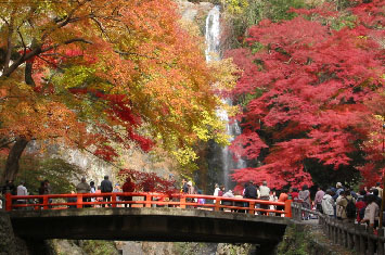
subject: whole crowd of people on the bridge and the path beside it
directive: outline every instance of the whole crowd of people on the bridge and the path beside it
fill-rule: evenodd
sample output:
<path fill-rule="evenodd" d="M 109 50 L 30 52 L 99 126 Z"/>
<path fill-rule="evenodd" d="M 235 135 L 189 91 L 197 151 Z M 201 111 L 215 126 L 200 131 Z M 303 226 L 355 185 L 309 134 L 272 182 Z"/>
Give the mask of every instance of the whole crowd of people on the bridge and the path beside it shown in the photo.
<path fill-rule="evenodd" d="M 177 186 L 176 186 L 177 188 Z M 144 189 L 144 188 L 143 188 Z M 179 189 L 179 188 L 177 188 Z M 7 181 L 5 186 L 0 190 L 2 194 L 12 193 L 14 195 L 28 195 L 28 190 L 25 186 L 25 181 L 20 181 L 16 187 L 13 181 Z M 72 193 L 111 193 L 111 192 L 133 192 L 136 191 L 136 183 L 130 177 L 126 178 L 125 183 L 120 187 L 118 183 L 113 186 L 108 176 L 104 176 L 104 180 L 99 187 L 95 186 L 94 181 L 87 182 L 86 178 L 81 178 L 80 182 L 76 186 L 76 190 Z M 145 190 L 143 190 L 145 191 Z M 202 191 L 194 187 L 192 181 L 187 181 L 182 179 L 182 184 L 180 187 L 180 192 L 185 194 L 202 194 Z M 41 181 L 38 189 L 38 194 L 51 194 L 51 186 L 49 180 Z M 286 200 L 292 200 L 294 202 L 301 203 L 304 208 L 317 209 L 320 213 L 329 215 L 330 217 L 335 217 L 339 220 L 345 220 L 349 222 L 367 222 L 372 227 L 378 226 L 380 211 L 383 199 L 383 189 L 380 183 L 371 189 L 362 189 L 358 193 L 349 189 L 349 187 L 344 187 L 341 182 L 337 182 L 335 187 L 329 189 L 318 188 L 315 199 L 311 202 L 309 188 L 304 184 L 300 190 L 297 188 L 282 189 L 275 191 L 268 187 L 267 181 L 262 181 L 260 186 L 249 181 L 245 183 L 243 190 L 226 190 L 224 186 L 215 184 L 214 193 L 215 196 L 222 197 L 238 197 L 238 199 L 258 199 L 262 201 L 273 201 L 273 202 L 285 202 Z M 84 197 L 84 202 L 95 202 L 98 196 L 94 197 Z M 107 202 L 111 202 L 111 196 L 103 196 L 103 202 L 106 202 L 102 206 L 106 206 Z M 130 201 L 132 196 L 119 196 L 117 201 L 127 201 L 124 203 L 126 207 L 130 207 Z M 15 201 L 17 204 L 26 204 L 28 201 L 26 199 L 20 199 Z M 42 204 L 42 199 L 39 199 L 38 203 Z M 68 197 L 68 203 L 76 203 L 76 197 Z M 205 204 L 205 199 L 187 199 L 187 202 L 195 202 L 197 204 Z M 28 202 L 30 203 L 30 202 Z M 51 203 L 51 201 L 49 201 Z M 215 203 L 215 201 L 214 201 Z M 234 205 L 240 207 L 246 207 L 247 205 L 243 202 L 234 201 L 222 201 L 222 205 Z M 2 202 L 0 200 L 0 207 Z M 283 206 L 273 206 L 268 204 L 257 205 L 260 209 L 277 209 L 283 211 Z M 69 205 L 68 207 L 76 207 L 76 205 Z M 85 207 L 90 207 L 85 206 Z M 271 212 L 261 211 L 259 214 L 264 215 L 275 215 Z M 281 214 L 277 214 L 280 216 Z M 283 214 L 282 214 L 283 215 Z M 305 220 L 309 219 L 309 212 L 305 212 L 303 218 Z"/>

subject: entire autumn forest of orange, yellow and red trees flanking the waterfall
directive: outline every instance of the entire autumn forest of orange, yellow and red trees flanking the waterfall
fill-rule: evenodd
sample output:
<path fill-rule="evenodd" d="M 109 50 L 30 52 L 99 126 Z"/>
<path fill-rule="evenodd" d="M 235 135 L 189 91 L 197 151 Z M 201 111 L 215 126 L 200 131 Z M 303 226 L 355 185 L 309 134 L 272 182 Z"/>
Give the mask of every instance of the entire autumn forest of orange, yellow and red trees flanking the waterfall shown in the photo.
<path fill-rule="evenodd" d="M 167 155 L 192 178 L 208 142 L 229 144 L 220 107 L 242 129 L 239 184 L 382 181 L 385 2 L 213 3 L 223 60 L 206 63 L 171 0 L 1 1 L 0 184 L 21 167 L 82 175 L 57 144 L 117 168 L 129 150 Z"/>

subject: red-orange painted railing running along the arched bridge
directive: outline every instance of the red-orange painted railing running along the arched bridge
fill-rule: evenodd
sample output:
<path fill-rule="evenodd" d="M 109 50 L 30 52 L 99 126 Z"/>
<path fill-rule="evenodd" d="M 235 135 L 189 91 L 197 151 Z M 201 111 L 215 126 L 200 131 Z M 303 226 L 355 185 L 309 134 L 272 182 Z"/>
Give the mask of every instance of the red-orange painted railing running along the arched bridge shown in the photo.
<path fill-rule="evenodd" d="M 111 201 L 103 201 L 110 197 Z M 76 199 L 76 201 L 75 201 Z M 95 199 L 91 202 L 91 199 Z M 197 203 L 204 199 L 205 203 Z M 74 200 L 74 202 L 68 202 Z M 207 203 L 207 202 L 211 203 Z M 248 200 L 238 197 L 223 197 L 197 194 L 163 194 L 146 192 L 114 192 L 114 193 L 76 193 L 76 194 L 49 194 L 49 195 L 12 195 L 5 194 L 5 211 L 12 209 L 67 209 L 82 207 L 152 207 L 168 206 L 180 208 L 198 208 L 208 211 L 244 212 L 248 214 L 277 213 L 292 217 L 292 201 L 272 202 L 265 200 Z M 258 205 L 281 206 L 283 209 L 265 209 Z"/>

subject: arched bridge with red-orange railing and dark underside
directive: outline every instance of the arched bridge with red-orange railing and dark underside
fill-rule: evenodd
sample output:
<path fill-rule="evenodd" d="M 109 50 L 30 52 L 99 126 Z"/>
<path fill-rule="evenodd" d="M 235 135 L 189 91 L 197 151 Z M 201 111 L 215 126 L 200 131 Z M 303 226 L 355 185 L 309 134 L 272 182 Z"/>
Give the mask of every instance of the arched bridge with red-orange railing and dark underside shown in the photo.
<path fill-rule="evenodd" d="M 14 232 L 24 239 L 258 243 L 266 251 L 281 241 L 291 203 L 143 192 L 5 195 Z"/>

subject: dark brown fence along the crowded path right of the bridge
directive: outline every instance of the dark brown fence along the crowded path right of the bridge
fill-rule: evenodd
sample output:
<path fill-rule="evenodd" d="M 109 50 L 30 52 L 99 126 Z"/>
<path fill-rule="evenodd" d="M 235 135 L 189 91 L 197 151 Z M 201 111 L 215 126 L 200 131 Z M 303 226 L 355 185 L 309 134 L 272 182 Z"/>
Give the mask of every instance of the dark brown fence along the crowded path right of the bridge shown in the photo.
<path fill-rule="evenodd" d="M 385 255 L 384 228 L 378 230 L 359 222 L 336 219 L 316 211 L 303 208 L 300 203 L 292 203 L 293 219 L 303 220 L 303 213 L 318 216 L 323 233 L 334 244 L 354 250 L 357 254 Z"/>

